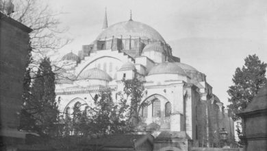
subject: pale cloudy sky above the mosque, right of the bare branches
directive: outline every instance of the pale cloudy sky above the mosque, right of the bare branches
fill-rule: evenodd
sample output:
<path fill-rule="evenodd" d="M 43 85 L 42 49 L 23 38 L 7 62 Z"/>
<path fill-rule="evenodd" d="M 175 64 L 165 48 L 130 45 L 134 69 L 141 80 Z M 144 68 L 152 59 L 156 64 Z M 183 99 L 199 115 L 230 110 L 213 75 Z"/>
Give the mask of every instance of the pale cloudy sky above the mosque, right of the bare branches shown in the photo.
<path fill-rule="evenodd" d="M 257 54 L 267 62 L 267 1 L 251 0 L 49 0 L 73 43 L 60 52 L 77 52 L 101 32 L 105 7 L 108 25 L 129 20 L 160 32 L 181 62 L 207 75 L 222 102 L 236 67 Z"/>

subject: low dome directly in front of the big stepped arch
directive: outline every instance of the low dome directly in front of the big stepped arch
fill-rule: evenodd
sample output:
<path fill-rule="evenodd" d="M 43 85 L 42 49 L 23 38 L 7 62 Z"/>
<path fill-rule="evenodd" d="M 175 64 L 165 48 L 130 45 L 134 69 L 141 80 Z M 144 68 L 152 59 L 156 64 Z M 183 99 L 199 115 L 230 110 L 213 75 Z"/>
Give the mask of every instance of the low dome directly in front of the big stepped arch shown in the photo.
<path fill-rule="evenodd" d="M 98 68 L 88 69 L 86 71 L 81 72 L 78 79 L 79 80 L 96 79 L 105 81 L 112 80 L 112 78 L 110 78 L 110 75 L 108 75 L 105 71 Z"/>

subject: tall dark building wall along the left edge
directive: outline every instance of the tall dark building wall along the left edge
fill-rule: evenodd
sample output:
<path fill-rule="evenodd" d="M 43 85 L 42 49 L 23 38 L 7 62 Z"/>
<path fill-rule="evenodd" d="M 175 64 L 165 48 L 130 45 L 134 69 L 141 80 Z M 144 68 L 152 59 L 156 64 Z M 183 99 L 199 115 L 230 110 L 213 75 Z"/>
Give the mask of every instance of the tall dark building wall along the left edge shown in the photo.
<path fill-rule="evenodd" d="M 23 78 L 31 29 L 0 12 L 0 139 L 2 146 L 24 143 L 19 132 Z M 12 147 L 11 147 L 12 148 Z"/>

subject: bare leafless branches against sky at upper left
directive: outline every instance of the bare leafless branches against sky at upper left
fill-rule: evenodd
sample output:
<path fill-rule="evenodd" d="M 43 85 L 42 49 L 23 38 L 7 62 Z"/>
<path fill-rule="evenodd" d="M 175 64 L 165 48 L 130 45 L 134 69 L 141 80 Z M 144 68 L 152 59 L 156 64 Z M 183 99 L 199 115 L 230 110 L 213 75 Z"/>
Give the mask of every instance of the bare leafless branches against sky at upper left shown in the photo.
<path fill-rule="evenodd" d="M 48 3 L 40 0 L 14 0 L 13 3 L 14 13 L 10 16 L 33 30 L 30 38 L 34 58 L 44 58 L 48 52 L 71 42 L 63 35 L 68 29 L 59 27 L 62 12 L 54 12 Z"/>

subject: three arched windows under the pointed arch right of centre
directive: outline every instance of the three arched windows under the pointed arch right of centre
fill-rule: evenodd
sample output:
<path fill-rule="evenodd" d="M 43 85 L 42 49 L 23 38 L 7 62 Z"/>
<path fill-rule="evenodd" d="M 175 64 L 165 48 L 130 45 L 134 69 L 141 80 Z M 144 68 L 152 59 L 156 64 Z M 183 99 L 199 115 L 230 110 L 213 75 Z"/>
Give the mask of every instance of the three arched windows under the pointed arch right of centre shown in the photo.
<path fill-rule="evenodd" d="M 160 100 L 155 99 L 152 101 L 152 116 L 153 117 L 162 117 L 162 110 L 161 110 L 161 105 L 160 105 Z M 142 117 L 148 117 L 148 106 L 142 106 Z M 170 117 L 171 114 L 171 104 L 170 102 L 167 102 L 165 104 L 165 117 Z"/>

